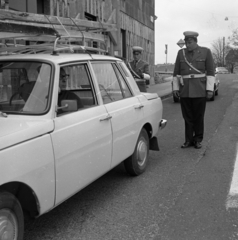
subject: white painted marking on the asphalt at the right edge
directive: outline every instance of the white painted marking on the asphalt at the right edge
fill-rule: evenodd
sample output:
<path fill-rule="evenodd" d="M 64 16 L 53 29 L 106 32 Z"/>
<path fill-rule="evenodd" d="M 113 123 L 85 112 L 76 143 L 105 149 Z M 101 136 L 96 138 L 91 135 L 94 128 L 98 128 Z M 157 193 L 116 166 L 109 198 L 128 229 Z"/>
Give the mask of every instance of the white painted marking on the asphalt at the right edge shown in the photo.
<path fill-rule="evenodd" d="M 226 200 L 226 209 L 238 208 L 238 144 L 236 145 L 236 159 L 230 191 Z"/>

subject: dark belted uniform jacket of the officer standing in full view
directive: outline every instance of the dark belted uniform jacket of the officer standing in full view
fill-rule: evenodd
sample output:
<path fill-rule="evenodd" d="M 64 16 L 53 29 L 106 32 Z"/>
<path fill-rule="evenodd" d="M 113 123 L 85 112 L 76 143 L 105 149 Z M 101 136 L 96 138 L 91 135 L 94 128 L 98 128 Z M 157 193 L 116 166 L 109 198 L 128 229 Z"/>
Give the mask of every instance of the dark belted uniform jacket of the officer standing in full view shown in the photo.
<path fill-rule="evenodd" d="M 184 50 L 187 61 L 193 67 L 200 70 L 202 73 L 205 73 L 207 76 L 213 76 L 212 78 L 214 79 L 214 62 L 210 49 L 198 46 L 193 51 L 193 55 L 190 52 L 188 52 L 187 49 Z M 183 49 L 178 51 L 173 76 L 176 77 L 177 75 L 184 76 L 189 74 L 199 74 L 185 62 L 182 51 Z M 213 87 L 214 83 L 212 85 L 212 89 Z M 180 97 L 189 98 L 206 97 L 206 90 L 212 89 L 211 86 L 210 89 L 208 89 L 206 77 L 184 78 L 183 85 L 179 84 Z"/>

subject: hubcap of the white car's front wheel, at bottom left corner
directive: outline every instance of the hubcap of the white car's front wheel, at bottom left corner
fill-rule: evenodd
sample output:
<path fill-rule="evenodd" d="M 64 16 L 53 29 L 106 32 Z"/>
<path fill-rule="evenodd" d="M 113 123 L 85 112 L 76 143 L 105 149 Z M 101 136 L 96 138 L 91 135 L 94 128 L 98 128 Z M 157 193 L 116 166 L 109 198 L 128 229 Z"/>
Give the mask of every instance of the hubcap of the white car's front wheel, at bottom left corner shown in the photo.
<path fill-rule="evenodd" d="M 17 220 L 15 214 L 9 209 L 0 210 L 0 239 L 17 239 Z"/>

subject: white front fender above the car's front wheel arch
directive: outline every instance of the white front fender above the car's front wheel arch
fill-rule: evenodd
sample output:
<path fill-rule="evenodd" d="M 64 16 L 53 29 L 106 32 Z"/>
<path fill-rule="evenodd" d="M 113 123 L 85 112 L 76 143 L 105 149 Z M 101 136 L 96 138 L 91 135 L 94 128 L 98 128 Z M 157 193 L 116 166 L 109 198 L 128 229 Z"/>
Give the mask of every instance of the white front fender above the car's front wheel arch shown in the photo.
<path fill-rule="evenodd" d="M 1 150 L 0 166 L 0 186 L 27 185 L 38 199 L 40 214 L 54 206 L 55 162 L 49 134 Z"/>

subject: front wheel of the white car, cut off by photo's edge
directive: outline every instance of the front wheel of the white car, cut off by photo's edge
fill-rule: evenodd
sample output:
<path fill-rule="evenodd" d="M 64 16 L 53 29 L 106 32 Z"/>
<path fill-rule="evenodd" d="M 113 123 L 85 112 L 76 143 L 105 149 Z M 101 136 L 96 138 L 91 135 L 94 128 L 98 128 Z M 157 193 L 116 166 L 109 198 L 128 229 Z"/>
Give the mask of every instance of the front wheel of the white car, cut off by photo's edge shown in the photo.
<path fill-rule="evenodd" d="M 23 211 L 19 201 L 11 193 L 0 192 L 0 226 L 0 239 L 23 240 Z"/>

